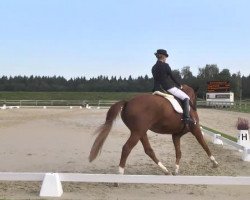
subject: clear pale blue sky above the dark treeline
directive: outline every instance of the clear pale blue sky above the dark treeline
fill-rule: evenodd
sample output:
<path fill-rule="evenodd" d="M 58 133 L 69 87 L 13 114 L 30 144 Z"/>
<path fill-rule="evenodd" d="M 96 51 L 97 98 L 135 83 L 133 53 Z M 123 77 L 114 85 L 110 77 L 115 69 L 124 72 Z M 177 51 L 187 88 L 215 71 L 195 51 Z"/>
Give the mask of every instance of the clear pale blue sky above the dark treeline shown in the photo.
<path fill-rule="evenodd" d="M 249 0 L 0 0 L 0 77 L 151 75 L 206 64 L 250 74 Z"/>

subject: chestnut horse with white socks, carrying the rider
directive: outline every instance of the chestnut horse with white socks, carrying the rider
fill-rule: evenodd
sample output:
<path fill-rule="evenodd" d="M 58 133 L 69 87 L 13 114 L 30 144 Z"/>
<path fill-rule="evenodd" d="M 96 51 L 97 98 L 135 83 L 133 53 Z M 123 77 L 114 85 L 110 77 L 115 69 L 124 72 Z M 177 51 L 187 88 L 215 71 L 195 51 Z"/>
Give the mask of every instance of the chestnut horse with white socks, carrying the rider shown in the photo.
<path fill-rule="evenodd" d="M 187 132 L 191 132 L 213 163 L 218 166 L 214 156 L 212 156 L 200 129 L 199 118 L 196 111 L 196 94 L 194 90 L 183 85 L 182 89 L 190 97 L 190 115 L 195 124 L 185 125 L 182 121 L 182 114 L 177 113 L 170 102 L 165 98 L 142 94 L 134 97 L 130 101 L 119 101 L 113 104 L 107 112 L 105 123 L 98 129 L 98 136 L 91 148 L 89 161 L 93 161 L 100 153 L 101 148 L 112 128 L 112 124 L 117 115 L 121 112 L 121 118 L 129 128 L 131 134 L 122 148 L 119 164 L 119 173 L 124 174 L 124 168 L 129 153 L 140 140 L 145 153 L 162 169 L 165 174 L 171 174 L 167 168 L 156 158 L 155 153 L 149 143 L 147 131 L 151 130 L 159 134 L 172 134 L 172 140 L 176 153 L 175 174 L 179 172 L 179 162 L 181 159 L 180 138 Z"/>

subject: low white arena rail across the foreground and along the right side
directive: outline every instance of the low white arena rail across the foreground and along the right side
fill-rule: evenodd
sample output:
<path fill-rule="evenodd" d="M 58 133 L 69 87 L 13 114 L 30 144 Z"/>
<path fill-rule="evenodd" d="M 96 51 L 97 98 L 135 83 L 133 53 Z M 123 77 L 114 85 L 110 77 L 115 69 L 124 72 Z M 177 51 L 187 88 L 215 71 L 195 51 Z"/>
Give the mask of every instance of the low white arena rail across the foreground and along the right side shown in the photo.
<path fill-rule="evenodd" d="M 213 138 L 213 143 L 226 143 L 243 151 L 242 159 L 250 161 L 250 149 L 221 137 L 206 129 L 203 134 Z M 247 158 L 249 160 L 247 160 Z M 182 185 L 249 185 L 250 177 L 243 176 L 162 176 L 162 175 L 119 175 L 83 173 L 30 173 L 0 172 L 0 181 L 41 181 L 41 197 L 60 197 L 63 194 L 62 182 L 81 183 L 136 183 L 136 184 L 182 184 Z"/>

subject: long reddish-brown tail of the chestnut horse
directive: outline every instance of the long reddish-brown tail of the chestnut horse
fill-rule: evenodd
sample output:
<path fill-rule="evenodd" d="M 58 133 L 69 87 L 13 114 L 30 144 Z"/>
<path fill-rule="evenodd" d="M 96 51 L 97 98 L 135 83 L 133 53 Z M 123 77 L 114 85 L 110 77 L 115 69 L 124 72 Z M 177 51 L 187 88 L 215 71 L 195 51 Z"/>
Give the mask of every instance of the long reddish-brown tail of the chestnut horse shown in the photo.
<path fill-rule="evenodd" d="M 106 121 L 103 125 L 100 126 L 100 128 L 96 131 L 96 133 L 99 133 L 98 136 L 95 139 L 95 142 L 91 148 L 90 154 L 89 154 L 89 162 L 92 162 L 98 154 L 100 154 L 102 146 L 108 137 L 108 134 L 112 128 L 113 121 L 116 119 L 117 115 L 120 113 L 122 107 L 124 107 L 126 104 L 126 101 L 119 101 L 115 104 L 113 104 L 106 115 Z"/>

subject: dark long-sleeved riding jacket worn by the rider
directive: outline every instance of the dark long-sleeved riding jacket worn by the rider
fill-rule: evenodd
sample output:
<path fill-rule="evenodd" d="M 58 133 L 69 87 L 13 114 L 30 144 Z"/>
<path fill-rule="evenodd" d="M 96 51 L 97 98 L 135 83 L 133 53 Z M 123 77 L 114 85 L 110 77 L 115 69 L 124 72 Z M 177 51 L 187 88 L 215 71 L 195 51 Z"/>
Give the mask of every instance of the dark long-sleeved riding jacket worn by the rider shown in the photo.
<path fill-rule="evenodd" d="M 152 74 L 154 77 L 154 91 L 167 91 L 172 87 L 175 87 L 175 84 L 178 87 L 181 87 L 181 84 L 175 79 L 172 74 L 172 70 L 167 63 L 162 61 L 157 61 L 156 64 L 152 67 Z"/>

